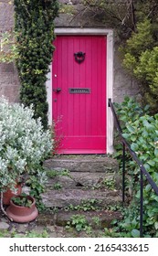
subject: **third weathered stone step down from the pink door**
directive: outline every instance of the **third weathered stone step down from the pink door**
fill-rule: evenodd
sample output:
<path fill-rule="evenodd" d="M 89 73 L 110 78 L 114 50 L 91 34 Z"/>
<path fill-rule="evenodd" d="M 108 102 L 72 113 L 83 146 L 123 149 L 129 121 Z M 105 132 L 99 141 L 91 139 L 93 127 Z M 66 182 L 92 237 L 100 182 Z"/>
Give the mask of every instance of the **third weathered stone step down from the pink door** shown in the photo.
<path fill-rule="evenodd" d="M 42 195 L 42 201 L 47 208 L 65 208 L 70 204 L 80 205 L 82 200 L 96 199 L 99 206 L 116 205 L 121 202 L 119 191 L 110 190 L 81 190 L 81 189 L 61 189 L 49 190 Z"/>

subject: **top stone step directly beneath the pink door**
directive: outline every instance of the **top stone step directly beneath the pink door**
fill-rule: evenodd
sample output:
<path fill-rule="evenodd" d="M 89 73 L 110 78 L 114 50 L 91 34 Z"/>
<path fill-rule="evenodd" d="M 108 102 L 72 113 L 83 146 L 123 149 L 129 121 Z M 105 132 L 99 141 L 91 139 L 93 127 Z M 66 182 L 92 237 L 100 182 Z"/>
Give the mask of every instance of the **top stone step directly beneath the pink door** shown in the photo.
<path fill-rule="evenodd" d="M 48 169 L 65 168 L 73 172 L 115 173 L 118 171 L 118 162 L 100 155 L 58 155 L 45 161 Z"/>

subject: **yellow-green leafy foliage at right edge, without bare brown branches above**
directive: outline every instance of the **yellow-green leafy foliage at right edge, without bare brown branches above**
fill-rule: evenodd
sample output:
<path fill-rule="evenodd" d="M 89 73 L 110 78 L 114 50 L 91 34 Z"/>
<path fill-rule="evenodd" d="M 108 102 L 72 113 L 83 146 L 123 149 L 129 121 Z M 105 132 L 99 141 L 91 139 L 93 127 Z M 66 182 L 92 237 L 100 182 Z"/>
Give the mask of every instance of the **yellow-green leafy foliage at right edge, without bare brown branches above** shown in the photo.
<path fill-rule="evenodd" d="M 157 27 L 157 25 L 156 25 Z M 121 46 L 123 66 L 140 81 L 143 101 L 157 112 L 158 104 L 158 44 L 157 29 L 145 18 L 137 24 L 137 32 Z"/>

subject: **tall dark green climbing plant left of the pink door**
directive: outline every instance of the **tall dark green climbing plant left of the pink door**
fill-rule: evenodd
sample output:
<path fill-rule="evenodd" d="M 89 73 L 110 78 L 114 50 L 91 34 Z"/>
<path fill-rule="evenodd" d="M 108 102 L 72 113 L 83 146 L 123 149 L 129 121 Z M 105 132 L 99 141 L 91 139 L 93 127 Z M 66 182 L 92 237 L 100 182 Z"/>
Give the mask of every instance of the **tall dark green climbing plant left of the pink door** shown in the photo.
<path fill-rule="evenodd" d="M 14 6 L 20 99 L 26 106 L 33 104 L 35 118 L 41 117 L 47 128 L 46 80 L 54 50 L 52 41 L 58 0 L 14 0 Z"/>

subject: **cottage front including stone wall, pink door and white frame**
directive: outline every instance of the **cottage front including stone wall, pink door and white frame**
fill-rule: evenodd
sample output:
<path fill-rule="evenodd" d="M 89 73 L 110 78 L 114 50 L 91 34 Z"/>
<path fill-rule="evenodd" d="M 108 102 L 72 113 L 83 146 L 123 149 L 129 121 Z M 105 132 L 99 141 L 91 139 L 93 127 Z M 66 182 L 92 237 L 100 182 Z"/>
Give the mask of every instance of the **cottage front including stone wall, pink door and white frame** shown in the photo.
<path fill-rule="evenodd" d="M 69 13 L 55 20 L 56 50 L 47 74 L 48 120 L 56 123 L 61 154 L 113 151 L 113 121 L 108 100 L 121 102 L 139 93 L 121 67 L 114 27 L 92 16 L 81 0 L 60 0 Z M 0 31 L 13 27 L 13 5 L 0 8 Z M 0 95 L 19 101 L 16 67 L 0 63 Z"/>

